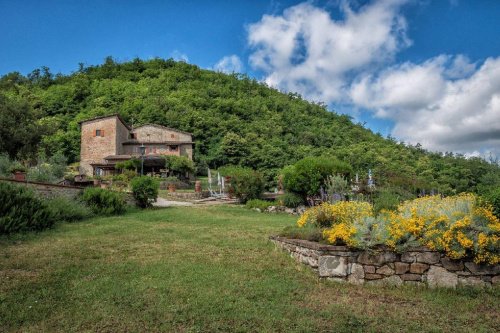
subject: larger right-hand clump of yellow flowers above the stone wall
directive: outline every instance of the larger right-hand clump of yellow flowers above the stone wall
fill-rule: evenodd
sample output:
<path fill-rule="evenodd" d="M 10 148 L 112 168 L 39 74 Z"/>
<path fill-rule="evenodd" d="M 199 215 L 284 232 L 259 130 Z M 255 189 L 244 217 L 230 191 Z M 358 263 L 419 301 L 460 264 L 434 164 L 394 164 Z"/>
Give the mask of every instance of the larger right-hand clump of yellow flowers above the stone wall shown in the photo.
<path fill-rule="evenodd" d="M 500 221 L 491 207 L 473 194 L 431 196 L 403 202 L 389 212 L 387 245 L 401 249 L 412 240 L 452 259 L 473 257 L 476 263 L 500 262 Z"/>

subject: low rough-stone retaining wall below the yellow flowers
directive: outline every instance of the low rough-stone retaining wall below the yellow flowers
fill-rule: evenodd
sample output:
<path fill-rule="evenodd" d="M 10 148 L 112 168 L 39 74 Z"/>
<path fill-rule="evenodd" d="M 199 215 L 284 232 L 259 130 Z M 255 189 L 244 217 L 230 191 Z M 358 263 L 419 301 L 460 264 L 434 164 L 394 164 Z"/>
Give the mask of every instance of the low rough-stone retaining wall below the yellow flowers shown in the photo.
<path fill-rule="evenodd" d="M 316 270 L 322 278 L 353 284 L 422 285 L 455 288 L 500 285 L 500 265 L 451 260 L 425 247 L 399 254 L 381 247 L 354 251 L 299 239 L 271 237 L 279 248 Z"/>

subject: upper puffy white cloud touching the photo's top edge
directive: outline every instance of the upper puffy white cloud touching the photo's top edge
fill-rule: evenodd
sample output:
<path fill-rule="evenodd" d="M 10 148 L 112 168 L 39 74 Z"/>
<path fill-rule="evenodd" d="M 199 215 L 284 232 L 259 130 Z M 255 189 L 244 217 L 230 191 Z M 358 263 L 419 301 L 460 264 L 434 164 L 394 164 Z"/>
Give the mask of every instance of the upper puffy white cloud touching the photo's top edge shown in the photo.
<path fill-rule="evenodd" d="M 382 0 L 357 12 L 347 4 L 343 20 L 310 3 L 290 7 L 281 16 L 264 15 L 248 27 L 253 48 L 250 64 L 265 73 L 267 84 L 306 98 L 332 102 L 342 98 L 346 75 L 376 68 L 409 45 L 403 0 Z"/>

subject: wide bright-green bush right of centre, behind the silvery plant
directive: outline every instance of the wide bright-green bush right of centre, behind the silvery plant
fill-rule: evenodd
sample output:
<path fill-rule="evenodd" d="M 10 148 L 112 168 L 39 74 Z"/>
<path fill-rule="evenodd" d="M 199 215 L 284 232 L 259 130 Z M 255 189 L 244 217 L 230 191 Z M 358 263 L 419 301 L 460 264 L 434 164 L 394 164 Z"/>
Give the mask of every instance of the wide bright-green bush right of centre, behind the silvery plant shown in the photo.
<path fill-rule="evenodd" d="M 349 164 L 332 157 L 306 157 L 283 169 L 285 190 L 306 198 L 319 194 L 328 176 L 348 176 L 352 172 Z"/>

